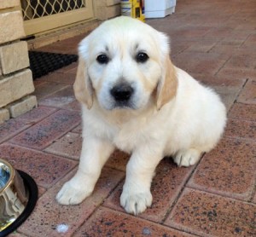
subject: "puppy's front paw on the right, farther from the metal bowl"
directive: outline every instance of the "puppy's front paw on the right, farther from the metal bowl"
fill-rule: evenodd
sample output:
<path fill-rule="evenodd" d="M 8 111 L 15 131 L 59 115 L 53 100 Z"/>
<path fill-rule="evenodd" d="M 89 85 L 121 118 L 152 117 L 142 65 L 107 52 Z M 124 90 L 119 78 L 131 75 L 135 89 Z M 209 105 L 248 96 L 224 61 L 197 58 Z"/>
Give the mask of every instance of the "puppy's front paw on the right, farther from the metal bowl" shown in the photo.
<path fill-rule="evenodd" d="M 150 191 L 131 192 L 124 189 L 120 197 L 120 203 L 125 211 L 137 215 L 152 204 L 152 194 Z"/>

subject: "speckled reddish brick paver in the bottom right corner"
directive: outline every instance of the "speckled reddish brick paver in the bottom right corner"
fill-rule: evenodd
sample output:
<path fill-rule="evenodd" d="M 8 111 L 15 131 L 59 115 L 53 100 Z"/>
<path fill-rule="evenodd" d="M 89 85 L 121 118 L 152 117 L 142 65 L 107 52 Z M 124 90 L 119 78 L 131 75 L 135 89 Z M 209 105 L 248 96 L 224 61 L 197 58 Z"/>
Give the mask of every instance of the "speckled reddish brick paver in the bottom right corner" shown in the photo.
<path fill-rule="evenodd" d="M 185 188 L 166 225 L 200 236 L 254 236 L 255 205 Z"/>

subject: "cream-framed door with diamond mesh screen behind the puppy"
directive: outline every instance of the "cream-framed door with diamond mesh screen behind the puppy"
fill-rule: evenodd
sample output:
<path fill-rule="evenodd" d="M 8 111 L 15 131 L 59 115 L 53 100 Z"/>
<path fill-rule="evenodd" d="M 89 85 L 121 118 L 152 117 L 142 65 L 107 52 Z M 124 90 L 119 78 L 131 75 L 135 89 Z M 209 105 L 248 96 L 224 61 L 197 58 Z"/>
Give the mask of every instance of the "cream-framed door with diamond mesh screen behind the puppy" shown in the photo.
<path fill-rule="evenodd" d="M 93 17 L 92 0 L 20 0 L 26 36 Z"/>

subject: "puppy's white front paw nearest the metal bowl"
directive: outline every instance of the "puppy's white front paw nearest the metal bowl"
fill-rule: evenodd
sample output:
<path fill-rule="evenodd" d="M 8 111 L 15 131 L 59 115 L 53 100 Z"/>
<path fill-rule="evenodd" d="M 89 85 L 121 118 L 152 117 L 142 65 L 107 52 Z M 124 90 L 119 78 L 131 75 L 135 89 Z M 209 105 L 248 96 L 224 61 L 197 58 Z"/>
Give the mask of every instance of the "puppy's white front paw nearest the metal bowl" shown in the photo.
<path fill-rule="evenodd" d="M 87 189 L 84 185 L 73 185 L 73 181 L 71 180 L 63 185 L 56 199 L 61 205 L 77 205 L 91 193 L 92 190 Z"/>

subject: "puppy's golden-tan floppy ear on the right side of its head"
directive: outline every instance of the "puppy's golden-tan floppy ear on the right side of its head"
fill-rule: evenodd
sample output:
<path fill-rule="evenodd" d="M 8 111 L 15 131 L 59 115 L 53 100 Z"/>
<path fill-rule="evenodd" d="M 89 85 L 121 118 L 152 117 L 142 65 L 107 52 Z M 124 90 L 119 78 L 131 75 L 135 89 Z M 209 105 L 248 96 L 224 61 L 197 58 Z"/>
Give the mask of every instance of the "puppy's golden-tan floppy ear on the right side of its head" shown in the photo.
<path fill-rule="evenodd" d="M 177 92 L 177 75 L 169 56 L 166 56 L 162 75 L 156 90 L 156 108 L 160 110 L 167 102 L 175 97 Z"/>

